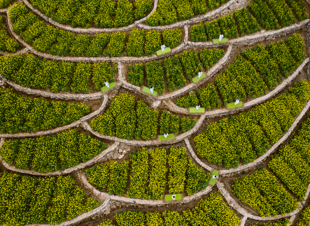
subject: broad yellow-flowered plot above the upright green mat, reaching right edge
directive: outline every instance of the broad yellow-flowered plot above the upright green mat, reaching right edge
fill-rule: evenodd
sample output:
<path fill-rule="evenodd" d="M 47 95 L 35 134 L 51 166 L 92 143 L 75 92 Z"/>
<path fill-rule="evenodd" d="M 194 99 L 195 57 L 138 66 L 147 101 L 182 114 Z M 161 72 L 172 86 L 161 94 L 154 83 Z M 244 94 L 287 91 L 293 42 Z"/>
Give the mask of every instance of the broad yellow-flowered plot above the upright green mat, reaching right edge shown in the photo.
<path fill-rule="evenodd" d="M 208 125 L 195 137 L 198 154 L 226 168 L 254 161 L 290 128 L 309 96 L 310 85 L 303 80 L 251 111 Z"/>

